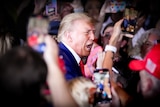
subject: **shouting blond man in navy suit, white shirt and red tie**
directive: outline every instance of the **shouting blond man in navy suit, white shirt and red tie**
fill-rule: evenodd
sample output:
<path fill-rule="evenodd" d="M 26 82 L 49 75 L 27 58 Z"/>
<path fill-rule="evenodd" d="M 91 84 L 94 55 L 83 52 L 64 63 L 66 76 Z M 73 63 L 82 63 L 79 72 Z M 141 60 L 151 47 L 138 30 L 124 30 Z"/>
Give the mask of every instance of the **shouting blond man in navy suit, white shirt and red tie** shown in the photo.
<path fill-rule="evenodd" d="M 92 19 L 84 13 L 71 13 L 61 21 L 58 31 L 59 56 L 65 62 L 67 80 L 85 76 L 79 63 L 91 51 L 94 31 Z"/>

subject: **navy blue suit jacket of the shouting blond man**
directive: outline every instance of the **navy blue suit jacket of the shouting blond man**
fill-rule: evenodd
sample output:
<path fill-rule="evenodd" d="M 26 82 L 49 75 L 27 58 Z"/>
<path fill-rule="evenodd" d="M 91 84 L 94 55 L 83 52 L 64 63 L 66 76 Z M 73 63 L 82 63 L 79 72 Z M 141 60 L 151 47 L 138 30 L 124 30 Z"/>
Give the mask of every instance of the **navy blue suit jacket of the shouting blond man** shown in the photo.
<path fill-rule="evenodd" d="M 77 64 L 76 59 L 72 55 L 72 53 L 67 49 L 67 47 L 62 43 L 58 43 L 59 47 L 59 56 L 63 57 L 66 73 L 65 78 L 66 80 L 73 79 L 75 77 L 82 76 L 81 68 Z"/>

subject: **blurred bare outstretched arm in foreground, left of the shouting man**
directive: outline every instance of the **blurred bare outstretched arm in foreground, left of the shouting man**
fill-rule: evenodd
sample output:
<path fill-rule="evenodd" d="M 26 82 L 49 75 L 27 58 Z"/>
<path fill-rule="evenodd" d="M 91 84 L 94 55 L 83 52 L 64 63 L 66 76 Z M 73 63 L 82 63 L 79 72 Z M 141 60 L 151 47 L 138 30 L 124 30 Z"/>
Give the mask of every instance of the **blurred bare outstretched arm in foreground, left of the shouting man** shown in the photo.
<path fill-rule="evenodd" d="M 58 46 L 50 36 L 45 37 L 44 59 L 48 67 L 47 82 L 55 107 L 78 107 L 72 98 L 67 82 L 58 65 Z"/>

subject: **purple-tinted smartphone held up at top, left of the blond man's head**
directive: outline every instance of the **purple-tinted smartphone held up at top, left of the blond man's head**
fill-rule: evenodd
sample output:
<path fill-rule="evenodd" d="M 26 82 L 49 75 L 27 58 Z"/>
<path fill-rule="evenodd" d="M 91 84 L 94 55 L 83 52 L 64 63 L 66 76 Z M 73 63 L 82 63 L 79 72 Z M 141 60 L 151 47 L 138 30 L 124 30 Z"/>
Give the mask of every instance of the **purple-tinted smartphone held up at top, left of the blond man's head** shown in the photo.
<path fill-rule="evenodd" d="M 46 15 L 56 15 L 57 14 L 57 0 L 49 0 L 46 5 Z"/>

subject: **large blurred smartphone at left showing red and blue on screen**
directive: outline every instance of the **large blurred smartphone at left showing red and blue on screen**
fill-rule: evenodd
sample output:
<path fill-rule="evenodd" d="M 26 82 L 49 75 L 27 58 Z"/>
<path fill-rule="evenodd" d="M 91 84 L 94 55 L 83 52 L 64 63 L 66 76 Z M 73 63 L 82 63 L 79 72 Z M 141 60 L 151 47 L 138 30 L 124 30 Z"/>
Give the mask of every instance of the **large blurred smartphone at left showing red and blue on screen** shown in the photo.
<path fill-rule="evenodd" d="M 44 36 L 48 34 L 49 20 L 44 16 L 31 16 L 27 25 L 27 44 L 39 53 L 45 50 Z"/>

